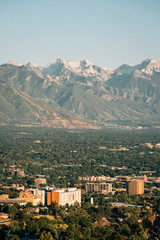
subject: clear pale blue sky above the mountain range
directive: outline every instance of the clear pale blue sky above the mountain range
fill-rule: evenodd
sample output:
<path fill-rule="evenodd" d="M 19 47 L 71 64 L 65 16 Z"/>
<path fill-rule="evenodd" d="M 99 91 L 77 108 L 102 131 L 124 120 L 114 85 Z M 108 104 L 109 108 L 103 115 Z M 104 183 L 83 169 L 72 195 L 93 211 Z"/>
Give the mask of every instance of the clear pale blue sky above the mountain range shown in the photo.
<path fill-rule="evenodd" d="M 0 64 L 160 61 L 160 0 L 0 0 Z"/>

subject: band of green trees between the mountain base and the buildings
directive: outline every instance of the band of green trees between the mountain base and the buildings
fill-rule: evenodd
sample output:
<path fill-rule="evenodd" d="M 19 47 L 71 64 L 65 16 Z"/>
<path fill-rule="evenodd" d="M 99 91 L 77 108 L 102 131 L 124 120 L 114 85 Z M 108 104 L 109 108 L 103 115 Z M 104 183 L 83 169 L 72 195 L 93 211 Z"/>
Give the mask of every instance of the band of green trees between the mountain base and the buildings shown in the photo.
<path fill-rule="evenodd" d="M 0 182 L 33 184 L 31 176 L 49 176 L 48 183 L 67 186 L 78 176 L 131 175 L 142 171 L 160 174 L 160 130 L 86 130 L 0 127 Z M 152 149 L 143 146 L 151 143 Z M 126 148 L 125 150 L 122 147 Z M 111 167 L 123 167 L 115 169 Z M 26 177 L 11 177 L 14 168 Z"/>

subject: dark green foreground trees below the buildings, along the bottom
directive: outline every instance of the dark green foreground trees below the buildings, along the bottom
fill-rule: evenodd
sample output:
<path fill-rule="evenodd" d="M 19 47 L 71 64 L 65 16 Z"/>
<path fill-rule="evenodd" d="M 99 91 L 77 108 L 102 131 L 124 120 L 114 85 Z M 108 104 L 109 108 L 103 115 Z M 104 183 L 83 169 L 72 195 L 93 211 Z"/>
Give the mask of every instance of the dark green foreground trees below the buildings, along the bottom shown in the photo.
<path fill-rule="evenodd" d="M 10 239 L 23 239 L 25 235 L 37 240 L 159 239 L 160 200 L 151 197 L 152 208 L 148 210 L 144 196 L 136 197 L 136 201 L 143 205 L 141 209 L 112 208 L 110 202 L 121 198 L 121 195 L 124 193 L 106 200 L 104 196 L 95 193 L 83 194 L 81 208 L 59 207 L 53 203 L 49 206 L 47 215 L 38 216 L 33 214 L 33 208 L 1 206 L 0 210 L 8 213 L 12 219 L 8 227 L 1 226 L 1 239 L 5 239 L 5 230 L 12 235 Z M 90 197 L 94 197 L 98 205 L 90 204 Z M 125 197 L 126 201 L 135 202 L 134 197 Z M 44 214 L 43 207 L 40 207 L 40 213 Z"/>

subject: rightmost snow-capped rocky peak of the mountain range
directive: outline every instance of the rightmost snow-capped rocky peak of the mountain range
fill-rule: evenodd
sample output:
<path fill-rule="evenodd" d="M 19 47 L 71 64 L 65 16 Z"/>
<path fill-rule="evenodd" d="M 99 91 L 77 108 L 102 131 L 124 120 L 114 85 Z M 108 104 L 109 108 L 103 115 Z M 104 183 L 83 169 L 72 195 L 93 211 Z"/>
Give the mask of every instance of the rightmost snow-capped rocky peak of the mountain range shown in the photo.
<path fill-rule="evenodd" d="M 160 100 L 160 63 L 147 59 L 131 69 L 125 73 L 116 71 L 107 86 L 116 89 L 117 95 L 124 99 L 154 106 L 154 102 Z"/>

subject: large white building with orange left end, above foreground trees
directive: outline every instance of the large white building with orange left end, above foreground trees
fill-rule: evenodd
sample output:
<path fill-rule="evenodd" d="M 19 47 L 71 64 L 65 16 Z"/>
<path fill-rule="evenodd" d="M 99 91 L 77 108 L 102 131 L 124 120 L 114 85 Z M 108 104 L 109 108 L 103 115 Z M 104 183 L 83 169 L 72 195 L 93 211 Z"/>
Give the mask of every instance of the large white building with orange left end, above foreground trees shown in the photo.
<path fill-rule="evenodd" d="M 78 203 L 81 205 L 81 190 L 77 188 L 63 188 L 47 191 L 47 205 L 52 202 L 58 203 L 60 206 L 69 206 Z"/>

